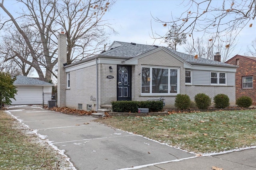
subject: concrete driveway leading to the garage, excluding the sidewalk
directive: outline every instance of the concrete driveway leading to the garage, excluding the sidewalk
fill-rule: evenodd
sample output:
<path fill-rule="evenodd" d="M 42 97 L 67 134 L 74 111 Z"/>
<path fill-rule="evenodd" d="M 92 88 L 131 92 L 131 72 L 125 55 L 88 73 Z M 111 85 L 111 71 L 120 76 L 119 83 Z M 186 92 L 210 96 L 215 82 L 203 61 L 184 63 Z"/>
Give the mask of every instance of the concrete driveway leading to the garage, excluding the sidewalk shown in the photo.
<path fill-rule="evenodd" d="M 194 154 L 94 122 L 92 116 L 74 116 L 15 106 L 8 110 L 70 158 L 77 170 L 116 170 L 194 157 Z"/>

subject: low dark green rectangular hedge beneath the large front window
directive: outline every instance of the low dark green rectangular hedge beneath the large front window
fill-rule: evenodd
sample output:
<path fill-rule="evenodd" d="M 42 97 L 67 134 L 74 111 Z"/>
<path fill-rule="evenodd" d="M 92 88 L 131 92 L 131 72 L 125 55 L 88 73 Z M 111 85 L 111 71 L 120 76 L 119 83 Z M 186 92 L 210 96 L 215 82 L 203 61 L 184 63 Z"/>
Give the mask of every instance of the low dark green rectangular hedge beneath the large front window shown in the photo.
<path fill-rule="evenodd" d="M 116 112 L 136 113 L 138 108 L 148 108 L 149 112 L 158 112 L 163 109 L 162 101 L 114 101 L 112 110 Z"/>

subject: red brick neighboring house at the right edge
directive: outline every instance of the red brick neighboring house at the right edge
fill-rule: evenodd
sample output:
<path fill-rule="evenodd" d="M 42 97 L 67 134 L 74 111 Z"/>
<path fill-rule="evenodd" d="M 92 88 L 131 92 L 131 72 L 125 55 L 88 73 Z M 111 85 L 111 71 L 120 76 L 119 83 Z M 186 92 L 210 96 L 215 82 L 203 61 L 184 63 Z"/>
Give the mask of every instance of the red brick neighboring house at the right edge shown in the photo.
<path fill-rule="evenodd" d="M 225 63 L 238 66 L 236 69 L 236 99 L 248 96 L 256 103 L 256 57 L 235 55 Z"/>

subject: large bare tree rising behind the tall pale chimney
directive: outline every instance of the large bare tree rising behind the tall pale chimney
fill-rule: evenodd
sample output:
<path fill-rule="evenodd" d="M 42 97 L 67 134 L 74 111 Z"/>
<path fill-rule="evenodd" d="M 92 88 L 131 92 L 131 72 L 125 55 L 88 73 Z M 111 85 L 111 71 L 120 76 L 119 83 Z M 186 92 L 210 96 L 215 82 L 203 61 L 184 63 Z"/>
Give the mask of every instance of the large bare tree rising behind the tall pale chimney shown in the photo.
<path fill-rule="evenodd" d="M 107 34 L 102 16 L 108 12 L 108 0 L 16 0 L 23 6 L 17 18 L 4 6 L 0 8 L 8 15 L 8 19 L 0 23 L 0 29 L 11 34 L 12 27 L 18 30 L 27 45 L 31 58 L 18 57 L 24 63 L 35 68 L 40 80 L 49 81 L 57 64 L 57 34 L 64 28 L 67 34 L 67 61 L 77 61 L 98 52 L 104 45 Z M 111 28 L 111 27 L 110 27 Z M 38 39 L 30 41 L 25 30 L 31 30 Z M 86 54 L 88 52 L 88 54 Z M 19 54 L 16 54 L 19 56 Z M 10 57 L 9 57 L 10 58 Z M 44 69 L 46 69 L 44 71 Z"/>

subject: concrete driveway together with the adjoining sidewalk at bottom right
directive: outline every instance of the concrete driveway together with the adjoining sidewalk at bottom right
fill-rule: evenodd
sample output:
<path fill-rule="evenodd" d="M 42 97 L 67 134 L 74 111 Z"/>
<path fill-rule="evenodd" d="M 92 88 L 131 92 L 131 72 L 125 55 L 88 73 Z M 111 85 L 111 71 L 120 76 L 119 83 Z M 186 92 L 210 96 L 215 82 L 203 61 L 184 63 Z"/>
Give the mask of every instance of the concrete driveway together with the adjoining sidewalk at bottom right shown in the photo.
<path fill-rule="evenodd" d="M 70 158 L 77 170 L 256 170 L 256 149 L 212 156 L 194 154 L 107 127 L 92 116 L 74 116 L 41 106 L 9 107 L 12 115 Z"/>

